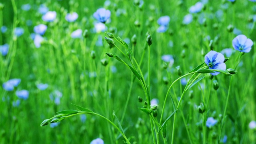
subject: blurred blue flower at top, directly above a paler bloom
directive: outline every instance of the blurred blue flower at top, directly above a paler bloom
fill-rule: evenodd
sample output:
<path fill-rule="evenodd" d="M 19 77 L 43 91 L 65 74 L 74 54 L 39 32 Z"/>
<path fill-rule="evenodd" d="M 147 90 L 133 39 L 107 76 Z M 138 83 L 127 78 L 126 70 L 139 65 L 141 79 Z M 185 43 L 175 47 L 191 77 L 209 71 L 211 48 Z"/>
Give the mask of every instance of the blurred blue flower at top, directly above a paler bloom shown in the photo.
<path fill-rule="evenodd" d="M 93 17 L 96 18 L 96 20 L 105 23 L 110 18 L 110 15 L 110 10 L 99 8 L 96 12 L 94 12 Z"/>

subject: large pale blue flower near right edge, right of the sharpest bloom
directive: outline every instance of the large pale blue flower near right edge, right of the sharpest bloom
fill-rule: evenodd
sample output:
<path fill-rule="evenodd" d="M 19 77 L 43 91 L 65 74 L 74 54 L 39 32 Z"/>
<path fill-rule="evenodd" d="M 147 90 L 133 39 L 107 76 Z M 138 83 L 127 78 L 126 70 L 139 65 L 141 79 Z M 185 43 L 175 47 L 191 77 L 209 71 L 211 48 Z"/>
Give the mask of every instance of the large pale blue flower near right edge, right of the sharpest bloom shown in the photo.
<path fill-rule="evenodd" d="M 250 52 L 253 42 L 250 38 L 247 38 L 245 35 L 240 34 L 232 40 L 232 45 L 235 50 L 238 50 L 240 52 Z"/>

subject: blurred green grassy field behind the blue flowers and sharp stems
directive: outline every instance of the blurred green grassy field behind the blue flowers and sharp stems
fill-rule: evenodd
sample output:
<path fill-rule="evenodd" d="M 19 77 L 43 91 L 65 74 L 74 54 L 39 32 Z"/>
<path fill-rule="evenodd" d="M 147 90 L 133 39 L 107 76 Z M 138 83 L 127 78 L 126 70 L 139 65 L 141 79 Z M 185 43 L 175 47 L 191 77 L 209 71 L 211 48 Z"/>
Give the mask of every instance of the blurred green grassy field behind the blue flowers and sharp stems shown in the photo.
<path fill-rule="evenodd" d="M 249 0 L 237 0 L 234 4 L 227 0 L 209 0 L 205 9 L 198 14 L 193 14 L 193 21 L 183 25 L 182 20 L 190 6 L 197 1 L 160 1 L 144 0 L 142 9 L 133 4 L 132 0 L 110 0 L 110 6 L 104 7 L 103 0 L 62 0 L 45 3 L 42 0 L 4 0 L 4 8 L 0 10 L 0 27 L 8 28 L 6 33 L 0 33 L 0 45 L 9 44 L 7 56 L 0 56 L 0 84 L 12 78 L 20 78 L 21 83 L 15 90 L 7 92 L 0 88 L 0 143 L 90 143 L 100 137 L 106 144 L 124 143 L 125 140 L 120 132 L 106 120 L 96 115 L 86 115 L 86 121 L 80 120 L 80 115 L 72 116 L 61 121 L 58 126 L 40 127 L 43 120 L 49 119 L 58 111 L 76 109 L 73 104 L 88 108 L 95 113 L 105 116 L 118 126 L 118 118 L 124 134 L 130 143 L 153 143 L 152 120 L 148 114 L 138 108 L 142 108 L 146 96 L 140 81 L 125 65 L 109 58 L 106 52 L 116 54 L 127 64 L 132 66 L 128 59 L 117 49 L 110 48 L 104 37 L 104 32 L 94 33 L 93 13 L 98 8 L 104 7 L 111 11 L 111 22 L 107 23 L 108 32 L 115 37 L 120 36 L 123 40 L 130 39 L 129 46 L 134 52 L 134 58 L 148 85 L 148 46 L 146 44 L 147 32 L 152 36 L 150 46 L 150 98 L 157 98 L 158 115 L 155 118 L 160 122 L 162 108 L 168 88 L 178 76 L 176 66 L 180 66 L 182 75 L 204 62 L 204 56 L 211 50 L 210 40 L 213 40 L 212 49 L 220 52 L 224 48 L 233 48 L 232 40 L 236 37 L 233 32 L 228 32 L 228 25 L 232 24 L 241 30 L 253 42 L 256 40 L 255 28 L 249 28 L 252 24 L 252 16 L 256 13 L 255 3 Z M 12 2 L 15 2 L 12 3 Z M 181 3 L 180 3 L 181 2 Z M 56 11 L 57 17 L 54 22 L 44 22 L 42 14 L 38 13 L 40 4 L 45 4 L 50 11 Z M 22 4 L 30 4 L 31 9 L 24 11 Z M 223 4 L 228 8 L 224 10 Z M 15 12 L 15 6 L 17 13 Z M 14 9 L 13 9 L 14 7 Z M 119 10 L 124 14 L 117 16 Z M 220 19 L 216 18 L 216 12 L 223 11 Z M 75 22 L 69 23 L 65 16 L 69 12 L 77 12 L 79 17 Z M 167 32 L 158 33 L 157 20 L 160 16 L 170 16 Z M 199 24 L 198 19 L 206 16 L 206 25 Z M 32 25 L 27 26 L 26 21 L 31 20 Z M 140 26 L 135 26 L 138 20 Z M 46 41 L 40 48 L 36 48 L 30 34 L 34 26 L 46 24 L 48 29 L 44 34 Z M 218 28 L 214 28 L 214 24 Z M 13 28 L 24 28 L 24 34 L 17 39 L 13 35 Z M 88 30 L 88 37 L 72 39 L 70 34 L 76 29 Z M 136 34 L 136 45 L 132 44 L 131 38 Z M 103 45 L 96 46 L 98 38 L 102 38 Z M 210 36 L 210 40 L 206 39 Z M 169 42 L 173 46 L 169 46 Z M 125 48 L 114 40 L 114 43 L 125 53 Z M 95 51 L 95 59 L 91 52 Z M 162 67 L 164 62 L 161 56 L 172 54 L 174 64 L 167 70 Z M 181 56 L 181 55 L 184 56 Z M 235 68 L 239 52 L 234 52 L 226 62 L 227 68 Z M 225 56 L 225 55 L 224 55 Z M 225 56 L 226 57 L 226 56 Z M 103 66 L 101 60 L 106 58 L 108 65 Z M 133 61 L 135 68 L 136 63 Z M 219 74 L 210 80 L 209 74 L 199 83 L 194 85 L 193 97 L 189 92 L 184 93 L 182 102 L 176 112 L 176 122 L 173 126 L 174 116 L 167 122 L 166 139 L 160 132 L 159 143 L 172 143 L 174 129 L 174 143 L 218 143 L 226 135 L 229 144 L 255 143 L 255 129 L 248 124 L 256 120 L 255 110 L 255 81 L 254 74 L 256 56 L 254 46 L 249 53 L 245 53 L 236 68 L 234 76 Z M 112 66 L 116 72 L 112 72 Z M 206 64 L 204 64 L 206 66 Z M 136 69 L 138 71 L 138 69 Z M 139 72 L 139 71 L 138 71 Z M 95 73 L 96 77 L 90 77 Z M 139 72 L 140 75 L 142 75 Z M 188 80 L 192 75 L 186 76 Z M 163 78 L 168 79 L 165 84 Z M 230 80 L 232 77 L 232 80 Z M 195 76 L 192 77 L 192 80 Z M 219 88 L 214 90 L 212 81 L 218 80 Z M 46 83 L 46 90 L 39 90 L 36 84 Z M 230 96 L 224 119 L 224 110 L 230 86 Z M 168 98 L 163 112 L 163 120 L 174 112 L 178 105 L 178 97 L 182 96 L 185 86 L 180 81 L 175 83 L 167 94 Z M 28 90 L 29 98 L 20 100 L 20 105 L 14 107 L 13 101 L 18 100 L 16 90 Z M 50 99 L 50 94 L 58 90 L 62 93 L 60 104 L 56 105 Z M 138 96 L 143 102 L 138 102 Z M 172 102 L 172 99 L 174 102 Z M 126 101 L 127 109 L 126 107 Z M 207 108 L 203 114 L 196 109 L 200 103 Z M 113 115 L 115 113 L 116 117 Z M 214 117 L 218 123 L 212 128 L 205 126 L 208 117 Z M 222 122 L 223 120 L 223 122 Z M 154 123 L 155 124 L 155 123 Z M 158 130 L 158 126 L 156 126 Z M 155 137 L 155 136 L 154 136 Z"/>

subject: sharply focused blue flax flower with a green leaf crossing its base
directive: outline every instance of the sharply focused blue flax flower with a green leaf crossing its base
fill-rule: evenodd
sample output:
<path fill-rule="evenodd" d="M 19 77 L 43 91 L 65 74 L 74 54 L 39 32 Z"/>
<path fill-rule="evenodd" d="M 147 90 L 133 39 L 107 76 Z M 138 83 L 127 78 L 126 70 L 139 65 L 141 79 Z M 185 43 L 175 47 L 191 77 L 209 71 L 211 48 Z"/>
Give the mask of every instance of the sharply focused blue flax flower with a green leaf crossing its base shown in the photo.
<path fill-rule="evenodd" d="M 209 69 L 213 70 L 226 70 L 226 64 L 224 63 L 224 56 L 220 52 L 211 50 L 204 57 L 204 62 L 209 66 Z M 220 72 L 211 73 L 213 76 L 218 75 Z"/>

